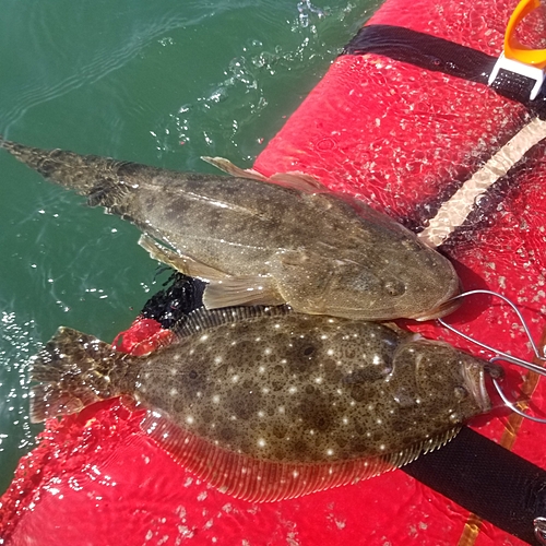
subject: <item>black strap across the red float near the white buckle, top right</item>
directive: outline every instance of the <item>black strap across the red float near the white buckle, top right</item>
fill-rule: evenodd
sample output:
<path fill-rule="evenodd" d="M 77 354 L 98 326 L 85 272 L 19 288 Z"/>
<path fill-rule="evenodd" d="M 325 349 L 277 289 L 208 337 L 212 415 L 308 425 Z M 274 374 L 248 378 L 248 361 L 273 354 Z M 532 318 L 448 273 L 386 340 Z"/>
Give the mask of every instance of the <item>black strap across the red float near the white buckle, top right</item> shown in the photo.
<path fill-rule="evenodd" d="M 363 26 L 345 46 L 342 55 L 376 54 L 416 67 L 487 84 L 496 57 L 428 34 L 392 25 Z M 497 93 L 524 104 L 535 116 L 546 119 L 546 93 L 534 100 L 530 92 L 534 81 L 500 70 L 491 85 Z"/>

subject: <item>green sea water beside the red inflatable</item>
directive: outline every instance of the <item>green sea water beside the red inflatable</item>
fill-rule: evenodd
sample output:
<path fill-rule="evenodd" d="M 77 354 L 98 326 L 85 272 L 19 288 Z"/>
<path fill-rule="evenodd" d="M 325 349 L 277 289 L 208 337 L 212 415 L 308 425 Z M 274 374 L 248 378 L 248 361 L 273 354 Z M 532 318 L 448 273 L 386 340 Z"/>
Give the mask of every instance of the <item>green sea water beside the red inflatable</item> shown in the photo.
<path fill-rule="evenodd" d="M 379 0 L 3 0 L 0 133 L 179 170 L 248 167 Z M 106 341 L 167 273 L 135 227 L 0 151 L 0 492 L 39 426 L 28 357 L 59 325 Z"/>

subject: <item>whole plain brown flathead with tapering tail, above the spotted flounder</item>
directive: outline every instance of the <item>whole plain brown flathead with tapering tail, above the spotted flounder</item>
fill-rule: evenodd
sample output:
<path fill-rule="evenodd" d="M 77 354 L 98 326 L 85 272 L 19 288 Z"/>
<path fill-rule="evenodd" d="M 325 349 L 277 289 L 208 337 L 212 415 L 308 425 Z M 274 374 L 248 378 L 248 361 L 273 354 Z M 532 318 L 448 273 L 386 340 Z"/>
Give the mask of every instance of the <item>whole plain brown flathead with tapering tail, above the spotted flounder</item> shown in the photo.
<path fill-rule="evenodd" d="M 289 304 L 351 319 L 425 320 L 451 311 L 451 263 L 389 216 L 301 175 L 176 173 L 0 139 L 44 177 L 131 221 L 151 254 L 207 281 L 207 308 Z M 168 245 L 158 246 L 147 236 Z"/>

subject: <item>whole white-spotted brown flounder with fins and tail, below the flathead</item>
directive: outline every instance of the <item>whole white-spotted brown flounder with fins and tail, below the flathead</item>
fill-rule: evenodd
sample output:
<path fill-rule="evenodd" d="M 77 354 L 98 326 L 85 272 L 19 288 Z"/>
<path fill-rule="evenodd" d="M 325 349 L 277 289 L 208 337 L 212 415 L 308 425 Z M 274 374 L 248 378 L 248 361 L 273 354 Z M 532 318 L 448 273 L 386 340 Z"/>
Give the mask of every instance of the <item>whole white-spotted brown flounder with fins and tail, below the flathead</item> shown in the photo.
<path fill-rule="evenodd" d="M 147 356 L 61 328 L 34 357 L 31 419 L 129 395 L 159 446 L 219 490 L 294 498 L 396 468 L 490 410 L 498 368 L 385 324 L 252 307 L 190 313 Z"/>

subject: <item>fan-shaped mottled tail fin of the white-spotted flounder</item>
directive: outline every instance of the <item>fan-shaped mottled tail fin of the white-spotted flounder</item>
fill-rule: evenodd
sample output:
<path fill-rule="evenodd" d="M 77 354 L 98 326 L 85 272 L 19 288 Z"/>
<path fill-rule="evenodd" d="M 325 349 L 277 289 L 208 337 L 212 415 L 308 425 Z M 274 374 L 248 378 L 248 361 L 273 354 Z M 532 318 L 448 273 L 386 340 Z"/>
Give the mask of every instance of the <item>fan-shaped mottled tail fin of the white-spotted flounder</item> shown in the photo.
<path fill-rule="evenodd" d="M 33 358 L 31 422 L 78 413 L 121 394 L 133 360 L 92 335 L 59 328 Z"/>

